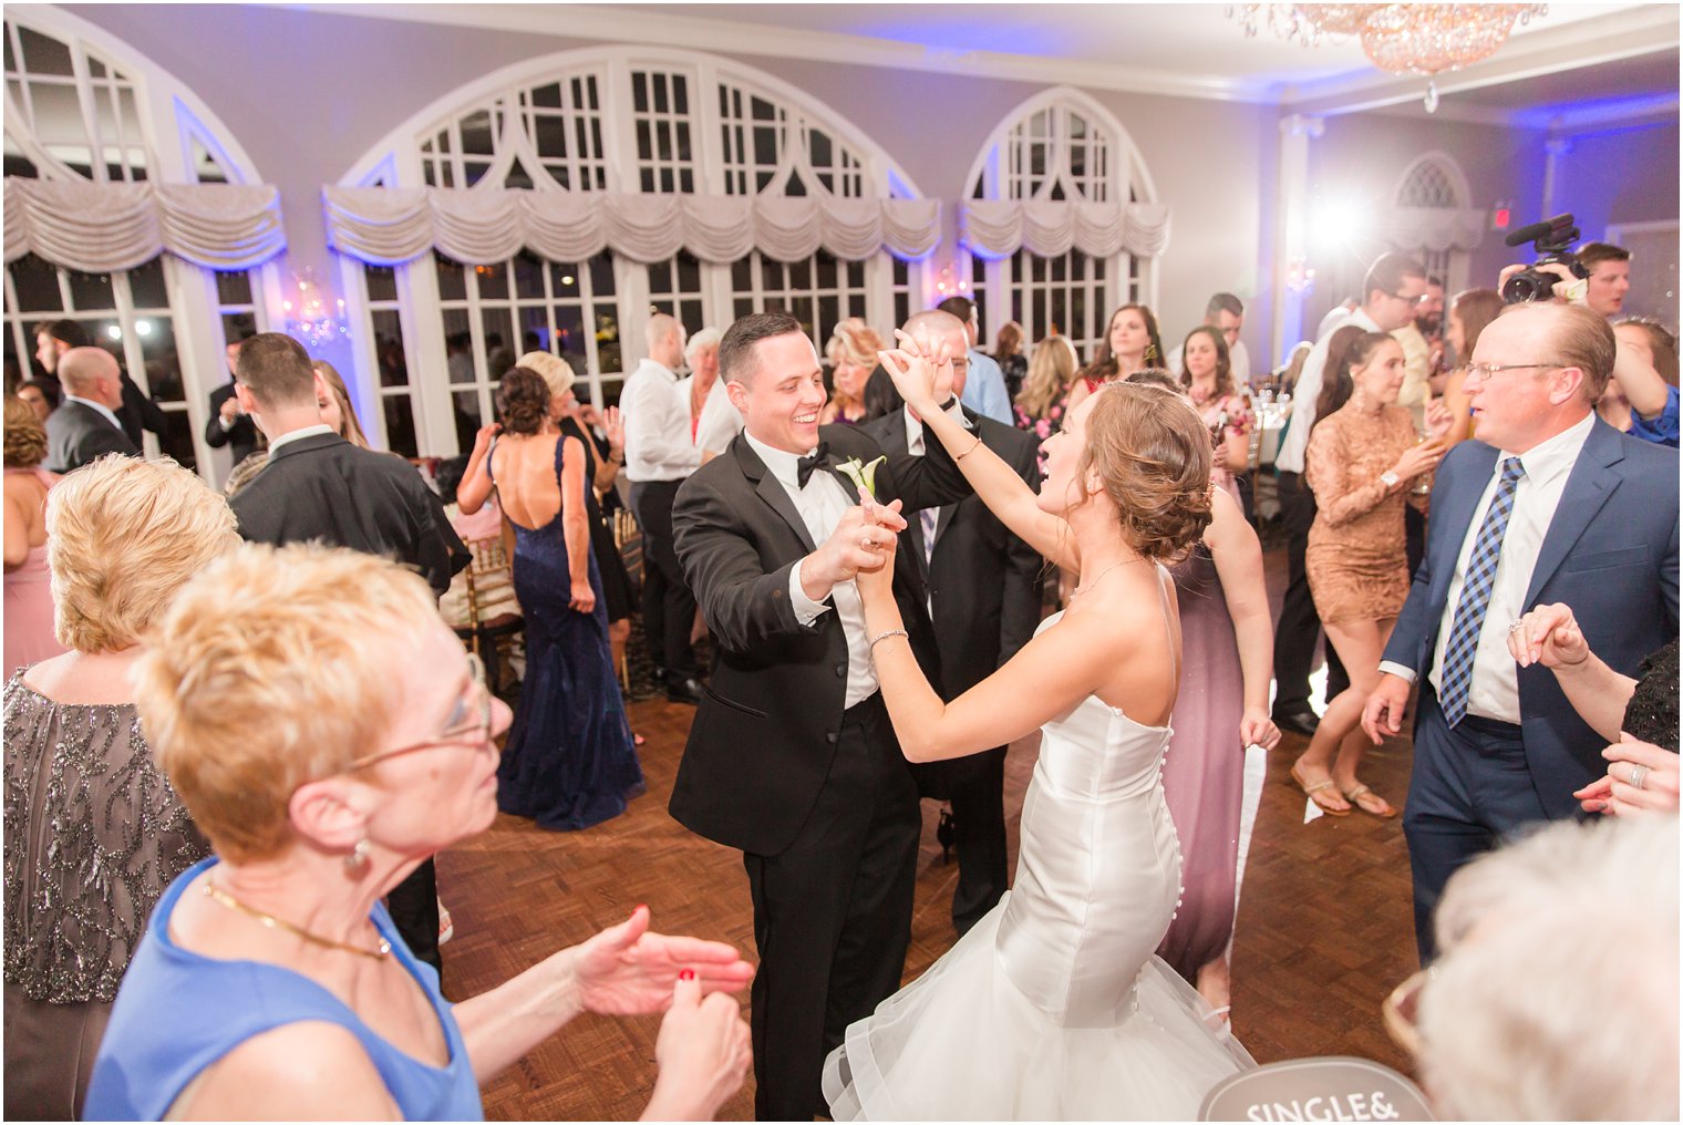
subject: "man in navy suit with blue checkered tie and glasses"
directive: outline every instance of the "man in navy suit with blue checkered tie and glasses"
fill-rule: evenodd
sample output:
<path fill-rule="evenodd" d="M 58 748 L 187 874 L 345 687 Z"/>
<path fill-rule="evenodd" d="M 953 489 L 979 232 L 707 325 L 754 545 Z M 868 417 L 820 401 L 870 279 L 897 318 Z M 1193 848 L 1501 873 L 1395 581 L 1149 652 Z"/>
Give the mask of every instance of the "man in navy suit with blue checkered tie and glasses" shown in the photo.
<path fill-rule="evenodd" d="M 1602 317 L 1552 301 L 1508 308 L 1473 352 L 1476 440 L 1437 470 L 1426 561 L 1362 716 L 1373 741 L 1397 734 L 1419 680 L 1404 832 L 1422 960 L 1449 876 L 1575 815 L 1572 790 L 1606 773 L 1607 739 L 1548 669 L 1515 664 L 1510 626 L 1564 601 L 1626 675 L 1678 635 L 1678 455 L 1595 418 L 1614 350 Z"/>

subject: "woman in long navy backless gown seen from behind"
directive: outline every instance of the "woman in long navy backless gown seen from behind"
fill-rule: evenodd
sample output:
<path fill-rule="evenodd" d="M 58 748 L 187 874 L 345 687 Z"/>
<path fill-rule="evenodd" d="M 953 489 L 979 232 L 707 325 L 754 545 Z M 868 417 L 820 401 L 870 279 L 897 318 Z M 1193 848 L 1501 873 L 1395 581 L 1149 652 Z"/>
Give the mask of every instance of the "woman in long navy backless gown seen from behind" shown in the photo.
<path fill-rule="evenodd" d="M 587 829 L 643 790 L 608 643 L 603 579 L 591 554 L 586 455 L 549 419 L 550 391 L 525 367 L 503 376 L 498 426 L 480 429 L 456 499 L 478 510 L 491 488 L 515 527 L 515 594 L 525 611 L 527 674 L 496 805 L 542 829 Z"/>

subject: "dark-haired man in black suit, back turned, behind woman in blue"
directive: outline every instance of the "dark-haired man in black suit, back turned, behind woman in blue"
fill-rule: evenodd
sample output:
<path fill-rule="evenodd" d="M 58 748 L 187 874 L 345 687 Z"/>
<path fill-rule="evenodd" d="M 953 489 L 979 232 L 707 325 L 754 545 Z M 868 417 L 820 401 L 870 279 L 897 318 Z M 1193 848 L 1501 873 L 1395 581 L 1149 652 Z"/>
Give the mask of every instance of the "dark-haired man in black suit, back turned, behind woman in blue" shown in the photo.
<path fill-rule="evenodd" d="M 279 332 L 246 340 L 234 394 L 269 438 L 268 465 L 231 502 L 246 541 L 321 541 L 396 557 L 416 568 L 436 594 L 449 589 L 468 564 L 468 549 L 444 507 L 402 458 L 353 446 L 321 421 L 316 403 L 327 387 L 296 340 Z M 433 861 L 417 866 L 385 903 L 411 952 L 441 968 Z"/>

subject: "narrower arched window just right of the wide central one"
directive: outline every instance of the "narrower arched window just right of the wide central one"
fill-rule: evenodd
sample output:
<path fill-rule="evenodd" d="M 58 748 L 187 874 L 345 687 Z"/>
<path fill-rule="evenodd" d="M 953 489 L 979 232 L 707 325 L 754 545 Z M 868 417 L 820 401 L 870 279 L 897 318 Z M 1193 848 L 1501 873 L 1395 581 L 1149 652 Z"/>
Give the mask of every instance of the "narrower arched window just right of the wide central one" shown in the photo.
<path fill-rule="evenodd" d="M 973 200 L 1060 204 L 1151 202 L 1133 141 L 1102 106 L 1060 88 L 1030 98 L 993 131 L 969 177 Z M 1070 248 L 1037 254 L 1027 246 L 986 259 L 971 246 L 969 283 L 985 337 L 1017 320 L 1030 340 L 1059 332 L 1092 359 L 1111 310 L 1149 301 L 1153 269 L 1126 249 L 1089 254 Z M 991 298 L 991 300 L 990 300 Z"/>

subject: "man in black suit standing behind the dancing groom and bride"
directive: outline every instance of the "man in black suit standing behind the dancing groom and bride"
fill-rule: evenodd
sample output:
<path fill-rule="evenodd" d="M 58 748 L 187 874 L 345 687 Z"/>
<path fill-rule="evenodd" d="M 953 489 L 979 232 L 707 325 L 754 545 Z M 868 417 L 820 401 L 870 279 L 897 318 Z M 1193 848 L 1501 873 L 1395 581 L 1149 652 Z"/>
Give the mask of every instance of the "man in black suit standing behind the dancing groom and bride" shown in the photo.
<path fill-rule="evenodd" d="M 936 392 L 963 396 L 968 335 L 956 317 L 917 313 L 904 330 L 948 345 L 949 364 L 936 374 Z M 899 397 L 899 396 L 895 396 Z M 1035 441 L 1015 426 L 964 411 L 983 445 L 1011 465 L 1030 488 L 1040 488 Z M 884 450 L 924 453 L 922 419 L 905 406 L 863 424 Z M 895 600 L 907 621 L 927 621 L 934 653 L 914 645 L 919 664 L 941 697 L 958 699 L 993 675 L 1028 643 L 1040 623 L 1043 561 L 974 495 L 941 509 L 924 509 L 900 532 L 895 561 Z M 993 909 L 1006 888 L 1005 864 L 1005 746 L 914 766 L 919 786 L 953 802 L 953 842 L 958 847 L 958 888 L 953 925 L 966 933 Z"/>

